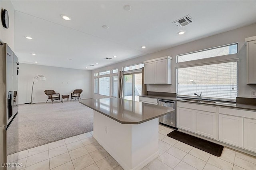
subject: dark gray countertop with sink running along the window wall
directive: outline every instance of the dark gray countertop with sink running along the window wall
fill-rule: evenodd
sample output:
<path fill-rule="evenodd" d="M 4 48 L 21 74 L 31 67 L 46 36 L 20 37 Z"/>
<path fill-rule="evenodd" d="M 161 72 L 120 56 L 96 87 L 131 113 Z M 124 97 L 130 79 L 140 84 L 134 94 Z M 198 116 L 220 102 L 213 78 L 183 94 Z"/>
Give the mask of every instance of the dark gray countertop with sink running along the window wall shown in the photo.
<path fill-rule="evenodd" d="M 212 106 L 224 106 L 224 107 L 230 107 L 230 108 L 247 109 L 247 110 L 256 111 L 256 105 L 240 104 L 240 103 L 234 103 L 234 102 L 200 103 L 200 102 L 184 101 L 182 100 L 184 98 L 176 98 L 176 97 L 165 97 L 165 96 L 154 96 L 154 95 L 143 95 L 142 97 L 174 100 L 174 101 L 188 102 L 188 103 L 194 103 L 194 104 L 206 104 L 206 105 L 212 105 Z"/>

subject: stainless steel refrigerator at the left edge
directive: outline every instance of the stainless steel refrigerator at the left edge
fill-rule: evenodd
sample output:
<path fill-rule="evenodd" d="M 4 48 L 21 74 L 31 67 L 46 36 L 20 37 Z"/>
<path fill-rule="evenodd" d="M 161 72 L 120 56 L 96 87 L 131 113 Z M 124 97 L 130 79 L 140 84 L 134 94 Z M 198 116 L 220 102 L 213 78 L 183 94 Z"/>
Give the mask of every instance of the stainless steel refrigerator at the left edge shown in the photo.
<path fill-rule="evenodd" d="M 11 48 L 0 45 L 0 170 L 15 169 L 18 160 L 19 62 Z"/>

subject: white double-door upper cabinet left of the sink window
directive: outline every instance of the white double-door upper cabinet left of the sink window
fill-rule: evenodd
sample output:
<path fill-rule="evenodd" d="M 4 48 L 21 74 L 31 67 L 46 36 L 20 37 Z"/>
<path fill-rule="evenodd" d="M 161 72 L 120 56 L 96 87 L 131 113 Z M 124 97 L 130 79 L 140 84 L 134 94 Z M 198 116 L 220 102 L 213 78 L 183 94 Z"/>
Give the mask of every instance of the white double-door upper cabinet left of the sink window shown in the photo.
<path fill-rule="evenodd" d="M 172 57 L 144 61 L 144 84 L 172 84 Z"/>

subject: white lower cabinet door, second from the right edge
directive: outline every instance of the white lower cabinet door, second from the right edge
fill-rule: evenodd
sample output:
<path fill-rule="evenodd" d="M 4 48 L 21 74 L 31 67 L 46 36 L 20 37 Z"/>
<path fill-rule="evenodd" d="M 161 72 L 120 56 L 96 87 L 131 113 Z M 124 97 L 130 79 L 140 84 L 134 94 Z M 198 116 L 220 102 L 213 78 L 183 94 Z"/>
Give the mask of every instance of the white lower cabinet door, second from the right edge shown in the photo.
<path fill-rule="evenodd" d="M 219 140 L 243 147 L 243 118 L 219 114 Z"/>

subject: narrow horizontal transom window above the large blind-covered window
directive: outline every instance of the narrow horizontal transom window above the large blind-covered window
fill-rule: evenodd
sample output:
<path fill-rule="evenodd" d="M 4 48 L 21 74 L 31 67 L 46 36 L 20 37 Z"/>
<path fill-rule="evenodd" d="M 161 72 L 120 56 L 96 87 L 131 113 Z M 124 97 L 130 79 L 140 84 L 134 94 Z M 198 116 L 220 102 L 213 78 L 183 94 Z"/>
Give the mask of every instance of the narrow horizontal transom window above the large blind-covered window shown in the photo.
<path fill-rule="evenodd" d="M 230 44 L 226 46 L 220 46 L 216 48 L 211 48 L 207 50 L 192 52 L 189 54 L 182 54 L 177 56 L 177 63 L 178 62 L 186 62 L 192 60 L 199 60 L 203 58 L 211 58 L 217 56 L 224 56 L 228 54 L 236 54 L 238 53 L 238 44 Z"/>

